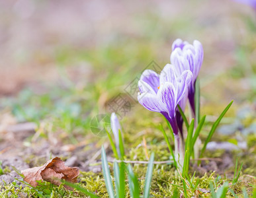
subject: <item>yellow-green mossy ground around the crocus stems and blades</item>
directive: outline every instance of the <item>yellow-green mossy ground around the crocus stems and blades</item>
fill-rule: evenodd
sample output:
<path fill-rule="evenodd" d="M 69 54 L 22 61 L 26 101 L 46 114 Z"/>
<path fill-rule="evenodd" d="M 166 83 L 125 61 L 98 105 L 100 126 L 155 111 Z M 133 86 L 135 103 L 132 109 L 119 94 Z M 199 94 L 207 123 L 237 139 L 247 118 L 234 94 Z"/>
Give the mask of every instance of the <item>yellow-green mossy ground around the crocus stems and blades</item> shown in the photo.
<path fill-rule="evenodd" d="M 136 111 L 135 111 L 136 112 Z M 138 111 L 140 112 L 140 111 Z M 151 114 L 148 112 L 140 113 L 140 116 L 148 117 L 147 114 Z M 164 120 L 162 117 L 157 117 L 154 114 L 151 114 L 153 119 L 156 119 L 159 121 L 159 123 L 164 123 Z M 134 116 L 136 117 L 136 114 L 134 113 Z M 128 119 L 128 118 L 127 118 Z M 152 117 L 150 118 L 152 119 Z M 132 119 L 132 127 L 126 127 L 131 125 L 128 120 L 124 120 L 122 122 L 124 129 L 126 131 L 124 132 L 124 146 L 126 149 L 126 158 L 125 160 L 134 160 L 134 161 L 145 161 L 148 160 L 147 153 L 155 152 L 155 160 L 156 161 L 165 161 L 169 160 L 170 154 L 169 150 L 167 149 L 167 145 L 165 144 L 165 141 L 161 135 L 161 132 L 158 129 L 157 123 L 152 123 L 149 118 L 144 119 L 144 121 L 133 121 Z M 126 123 L 127 122 L 127 123 Z M 156 121 L 157 122 L 157 121 Z M 143 131 L 136 131 L 135 129 L 138 128 L 144 129 Z M 207 128 L 207 126 L 206 126 Z M 166 130 L 167 126 L 166 126 Z M 138 134 L 140 133 L 140 134 Z M 95 139 L 95 137 L 89 135 L 92 139 Z M 146 138 L 147 147 L 145 148 L 143 145 L 143 137 Z M 99 137 L 98 137 L 99 138 Z M 222 137 L 222 141 L 228 141 L 230 137 Z M 216 138 L 214 138 L 216 140 Z M 203 139 L 202 139 L 203 140 Z M 218 140 L 218 139 L 217 139 Z M 255 140 L 255 135 L 249 135 L 247 137 L 247 143 L 248 146 L 251 145 L 253 141 Z M 101 141 L 105 142 L 108 141 L 106 137 L 102 137 Z M 97 146 L 96 146 L 97 147 Z M 192 197 L 192 195 L 198 195 L 198 197 L 210 197 L 210 187 L 209 183 L 214 182 L 216 183 L 216 189 L 220 187 L 224 182 L 230 183 L 230 189 L 234 191 L 234 193 L 239 196 L 243 197 L 243 189 L 247 189 L 247 193 L 251 195 L 253 191 L 253 187 L 251 185 L 255 185 L 255 178 L 253 179 L 252 176 L 255 176 L 256 170 L 255 170 L 255 160 L 251 160 L 252 158 L 255 158 L 255 147 L 250 147 L 253 149 L 250 149 L 249 151 L 233 151 L 231 152 L 232 161 L 235 164 L 235 159 L 238 156 L 239 159 L 239 165 L 241 162 L 243 162 L 243 169 L 241 172 L 241 176 L 239 178 L 239 182 L 235 183 L 235 185 L 232 185 L 233 180 L 233 174 L 234 174 L 234 166 L 231 166 L 230 168 L 226 169 L 224 173 L 222 170 L 209 171 L 202 173 L 198 171 L 195 167 L 191 164 L 191 170 L 189 171 L 191 176 L 195 172 L 195 176 L 192 179 L 192 183 L 196 183 L 198 180 L 198 187 L 196 188 L 196 191 L 188 191 L 189 197 Z M 95 148 L 96 149 L 96 148 Z M 100 147 L 98 147 L 100 149 Z M 112 155 L 112 152 L 110 151 L 110 148 L 108 147 L 108 154 Z M 147 150 L 147 151 L 146 151 Z M 215 152 L 209 152 L 207 151 L 204 155 L 205 158 L 222 158 L 222 156 L 225 154 L 224 150 L 216 150 Z M 65 160 L 64 157 L 63 159 Z M 31 161 L 31 159 L 33 159 Z M 44 163 L 45 158 L 38 158 L 37 156 L 26 156 L 26 162 L 31 163 L 30 166 L 40 166 Z M 203 164 L 208 164 L 210 161 L 204 162 Z M 99 166 L 101 164 L 101 161 L 98 157 L 97 162 L 92 162 L 89 164 L 89 166 Z M 109 163 L 110 170 L 112 172 L 112 163 Z M 144 179 L 146 175 L 146 168 L 147 164 L 132 164 L 132 167 L 134 169 L 134 172 L 139 178 L 141 191 L 143 191 L 144 186 Z M 9 168 L 5 168 L 3 170 L 4 174 L 7 174 L 9 172 Z M 218 173 L 218 172 L 221 172 Z M 105 181 L 103 178 L 102 172 L 83 172 L 81 171 L 81 174 L 79 176 L 79 185 L 82 187 L 85 187 L 89 191 L 95 192 L 100 197 L 108 197 L 107 189 L 105 187 Z M 66 191 L 65 188 L 61 185 L 60 187 L 54 187 L 54 185 L 50 183 L 42 183 L 42 187 L 37 188 L 31 188 L 26 185 L 17 185 L 15 183 L 4 185 L 1 188 L 0 196 L 7 197 L 10 195 L 13 197 L 38 197 L 40 194 L 43 195 L 43 197 L 85 197 L 83 193 L 79 191 Z M 153 197 L 173 197 L 177 195 L 183 195 L 183 182 L 181 178 L 178 176 L 177 172 L 175 172 L 175 168 L 173 167 L 173 164 L 156 164 L 154 166 L 153 170 L 153 179 L 151 183 L 151 195 Z M 128 191 L 128 183 L 126 183 L 126 197 L 130 197 L 130 193 Z M 227 197 L 233 197 L 232 193 L 228 191 Z"/>

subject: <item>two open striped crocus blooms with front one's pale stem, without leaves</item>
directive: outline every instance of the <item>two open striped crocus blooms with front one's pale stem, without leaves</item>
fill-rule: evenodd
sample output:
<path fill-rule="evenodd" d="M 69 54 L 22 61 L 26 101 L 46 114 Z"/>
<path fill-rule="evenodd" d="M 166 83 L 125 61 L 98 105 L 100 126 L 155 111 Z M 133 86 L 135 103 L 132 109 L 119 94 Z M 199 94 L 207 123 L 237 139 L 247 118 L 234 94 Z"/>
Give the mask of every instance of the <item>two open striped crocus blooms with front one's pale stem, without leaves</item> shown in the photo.
<path fill-rule="evenodd" d="M 172 45 L 171 64 L 165 65 L 160 75 L 146 70 L 142 73 L 138 86 L 138 101 L 144 108 L 159 112 L 169 121 L 175 137 L 175 157 L 183 164 L 185 144 L 183 118 L 179 112 L 185 111 L 187 99 L 195 118 L 194 92 L 195 82 L 204 56 L 202 44 L 195 40 L 193 44 L 175 40 Z"/>

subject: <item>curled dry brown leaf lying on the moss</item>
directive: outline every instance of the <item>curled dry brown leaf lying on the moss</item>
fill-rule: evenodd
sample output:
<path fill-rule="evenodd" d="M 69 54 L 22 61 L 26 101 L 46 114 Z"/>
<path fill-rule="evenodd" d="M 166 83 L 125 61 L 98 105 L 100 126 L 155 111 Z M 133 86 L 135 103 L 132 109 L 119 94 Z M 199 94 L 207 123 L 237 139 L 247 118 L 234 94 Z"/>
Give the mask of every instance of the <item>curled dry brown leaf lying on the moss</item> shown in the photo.
<path fill-rule="evenodd" d="M 79 168 L 70 168 L 65 166 L 65 163 L 58 157 L 48 160 L 46 164 L 40 167 L 28 168 L 22 170 L 24 175 L 24 181 L 28 182 L 33 187 L 36 187 L 38 183 L 36 181 L 46 181 L 60 185 L 60 180 L 66 180 L 67 182 L 77 182 L 79 176 Z M 67 189 L 71 189 L 65 186 Z"/>

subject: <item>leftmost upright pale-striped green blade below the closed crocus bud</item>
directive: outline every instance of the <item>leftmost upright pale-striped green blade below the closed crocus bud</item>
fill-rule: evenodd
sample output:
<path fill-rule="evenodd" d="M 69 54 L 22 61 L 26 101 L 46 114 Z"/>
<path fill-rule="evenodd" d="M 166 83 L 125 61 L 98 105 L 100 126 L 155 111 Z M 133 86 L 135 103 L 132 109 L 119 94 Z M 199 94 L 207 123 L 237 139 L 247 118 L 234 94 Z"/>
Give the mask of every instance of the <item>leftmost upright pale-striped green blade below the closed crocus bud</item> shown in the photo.
<path fill-rule="evenodd" d="M 108 191 L 108 196 L 110 198 L 114 198 L 114 189 L 113 189 L 113 184 L 110 176 L 110 171 L 108 168 L 108 161 L 107 161 L 107 156 L 104 147 L 101 149 L 101 161 L 102 161 L 102 168 L 103 168 L 103 176 L 105 179 L 107 191 Z"/>

